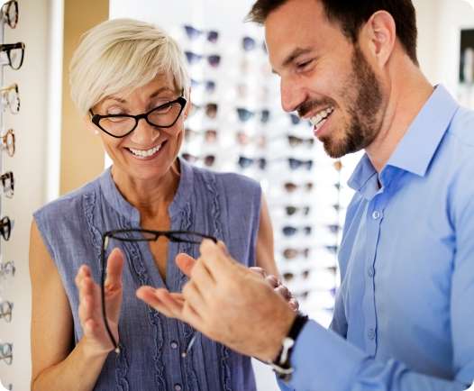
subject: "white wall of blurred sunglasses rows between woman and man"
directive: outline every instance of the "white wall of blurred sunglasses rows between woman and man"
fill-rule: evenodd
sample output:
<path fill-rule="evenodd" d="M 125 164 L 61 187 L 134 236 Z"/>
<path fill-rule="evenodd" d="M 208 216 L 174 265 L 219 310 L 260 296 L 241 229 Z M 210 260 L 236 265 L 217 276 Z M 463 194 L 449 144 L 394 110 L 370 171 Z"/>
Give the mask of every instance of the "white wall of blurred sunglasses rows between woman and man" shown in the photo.
<path fill-rule="evenodd" d="M 275 256 L 301 309 L 329 324 L 339 283 L 337 250 L 359 155 L 333 160 L 311 123 L 280 105 L 261 31 L 235 34 L 185 24 L 175 38 L 185 50 L 192 109 L 183 159 L 260 182 L 269 204 Z M 232 38 L 231 38 L 232 37 Z"/>

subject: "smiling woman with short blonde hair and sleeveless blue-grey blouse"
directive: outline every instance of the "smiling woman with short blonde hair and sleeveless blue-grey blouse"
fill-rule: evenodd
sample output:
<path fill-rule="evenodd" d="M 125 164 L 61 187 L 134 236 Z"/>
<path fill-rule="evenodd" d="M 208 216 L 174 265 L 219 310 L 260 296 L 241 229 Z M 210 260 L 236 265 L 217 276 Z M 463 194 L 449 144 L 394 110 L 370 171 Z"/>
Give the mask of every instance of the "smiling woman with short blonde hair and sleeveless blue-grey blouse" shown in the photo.
<path fill-rule="evenodd" d="M 135 297 L 142 285 L 179 292 L 186 277 L 174 260 L 196 257 L 197 245 L 114 241 L 105 308 L 119 354 L 101 314 L 95 281 L 102 234 L 111 230 L 210 234 L 243 264 L 278 275 L 260 186 L 178 159 L 190 102 L 177 43 L 148 23 L 108 21 L 85 35 L 70 72 L 73 99 L 113 166 L 34 214 L 32 389 L 255 389 L 249 358 L 203 336 L 182 357 L 194 331 Z"/>

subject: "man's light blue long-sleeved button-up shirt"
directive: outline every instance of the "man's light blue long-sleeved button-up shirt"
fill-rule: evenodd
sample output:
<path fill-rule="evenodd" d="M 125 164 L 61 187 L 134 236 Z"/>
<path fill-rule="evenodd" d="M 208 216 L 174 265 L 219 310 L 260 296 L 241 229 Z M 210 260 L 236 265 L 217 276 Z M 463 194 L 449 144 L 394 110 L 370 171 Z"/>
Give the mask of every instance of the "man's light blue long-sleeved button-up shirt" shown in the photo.
<path fill-rule="evenodd" d="M 332 330 L 305 325 L 289 386 L 466 389 L 474 379 L 474 113 L 436 87 L 387 166 L 378 174 L 364 156 L 349 185 L 356 193 Z"/>

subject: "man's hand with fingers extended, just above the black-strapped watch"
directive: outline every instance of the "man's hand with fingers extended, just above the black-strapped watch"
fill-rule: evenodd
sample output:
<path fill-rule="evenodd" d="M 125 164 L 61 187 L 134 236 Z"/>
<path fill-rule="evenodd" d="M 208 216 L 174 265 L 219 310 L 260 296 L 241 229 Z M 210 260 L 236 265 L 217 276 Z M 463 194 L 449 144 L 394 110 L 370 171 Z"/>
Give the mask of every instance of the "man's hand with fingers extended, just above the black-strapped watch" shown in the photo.
<path fill-rule="evenodd" d="M 203 241 L 200 250 L 196 264 L 177 257 L 178 267 L 190 275 L 182 294 L 141 286 L 137 296 L 232 350 L 275 359 L 295 312 L 265 278 L 233 260 L 223 243 Z"/>

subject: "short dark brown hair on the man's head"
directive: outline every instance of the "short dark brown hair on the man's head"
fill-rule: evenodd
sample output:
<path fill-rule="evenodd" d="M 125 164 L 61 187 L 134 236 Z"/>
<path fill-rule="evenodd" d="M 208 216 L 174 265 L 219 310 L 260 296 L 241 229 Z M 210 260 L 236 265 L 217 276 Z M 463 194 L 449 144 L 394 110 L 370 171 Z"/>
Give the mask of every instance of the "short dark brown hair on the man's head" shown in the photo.
<path fill-rule="evenodd" d="M 263 24 L 269 14 L 288 0 L 257 0 L 247 15 L 250 22 Z M 314 0 L 316 1 L 316 0 Z M 412 0 L 319 0 L 324 6 L 328 20 L 339 23 L 342 32 L 356 42 L 360 27 L 377 11 L 387 11 L 395 20 L 397 38 L 412 61 L 416 58 L 416 15 Z"/>

